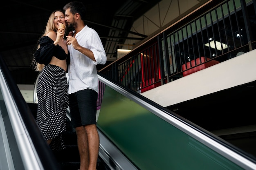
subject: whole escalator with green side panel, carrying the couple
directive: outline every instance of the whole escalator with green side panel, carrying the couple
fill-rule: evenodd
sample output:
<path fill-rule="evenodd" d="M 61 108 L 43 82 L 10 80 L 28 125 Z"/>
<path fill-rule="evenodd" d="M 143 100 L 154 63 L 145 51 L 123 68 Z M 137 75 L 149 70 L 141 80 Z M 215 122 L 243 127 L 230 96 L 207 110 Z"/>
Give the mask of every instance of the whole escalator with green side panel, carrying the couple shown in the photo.
<path fill-rule="evenodd" d="M 67 111 L 67 150 L 53 153 L 0 56 L 0 170 L 77 170 Z M 256 170 L 256 160 L 210 132 L 99 73 L 98 170 Z M 65 159 L 65 160 L 64 160 Z"/>

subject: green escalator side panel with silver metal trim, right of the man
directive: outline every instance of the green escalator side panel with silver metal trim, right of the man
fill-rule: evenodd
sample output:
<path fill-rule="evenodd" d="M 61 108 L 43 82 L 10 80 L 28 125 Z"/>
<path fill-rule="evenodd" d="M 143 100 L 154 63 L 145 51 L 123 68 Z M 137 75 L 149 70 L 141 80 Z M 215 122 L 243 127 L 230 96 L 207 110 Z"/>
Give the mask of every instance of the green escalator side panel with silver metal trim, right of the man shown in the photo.
<path fill-rule="evenodd" d="M 196 127 L 103 81 L 97 126 L 140 170 L 256 169 L 255 162 Z"/>

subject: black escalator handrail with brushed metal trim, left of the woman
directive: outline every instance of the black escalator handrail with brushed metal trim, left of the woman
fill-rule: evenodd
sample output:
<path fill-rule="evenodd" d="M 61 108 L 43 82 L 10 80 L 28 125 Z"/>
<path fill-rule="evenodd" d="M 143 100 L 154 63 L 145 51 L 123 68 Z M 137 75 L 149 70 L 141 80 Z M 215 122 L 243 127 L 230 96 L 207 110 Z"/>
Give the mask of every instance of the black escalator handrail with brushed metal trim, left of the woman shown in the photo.
<path fill-rule="evenodd" d="M 0 87 L 26 170 L 60 170 L 34 116 L 0 55 Z M 15 157 L 15 155 L 12 155 Z"/>

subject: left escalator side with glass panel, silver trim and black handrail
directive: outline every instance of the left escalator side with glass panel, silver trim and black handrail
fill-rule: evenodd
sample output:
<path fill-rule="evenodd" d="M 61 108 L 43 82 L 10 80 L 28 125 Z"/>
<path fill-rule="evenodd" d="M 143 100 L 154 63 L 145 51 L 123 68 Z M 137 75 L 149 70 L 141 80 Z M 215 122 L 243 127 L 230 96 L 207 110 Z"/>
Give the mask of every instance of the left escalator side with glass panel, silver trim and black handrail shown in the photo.
<path fill-rule="evenodd" d="M 1 55 L 0 123 L 1 170 L 60 170 Z"/>

